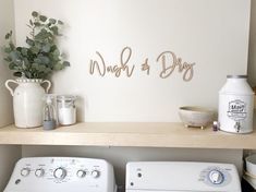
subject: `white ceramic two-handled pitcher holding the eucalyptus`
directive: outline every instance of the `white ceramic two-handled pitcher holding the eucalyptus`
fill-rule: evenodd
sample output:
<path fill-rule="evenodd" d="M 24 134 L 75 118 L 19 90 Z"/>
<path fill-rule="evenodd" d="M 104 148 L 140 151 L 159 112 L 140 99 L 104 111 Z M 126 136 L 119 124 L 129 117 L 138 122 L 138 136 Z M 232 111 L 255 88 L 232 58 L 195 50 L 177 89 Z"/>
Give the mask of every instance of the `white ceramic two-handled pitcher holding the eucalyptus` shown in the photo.
<path fill-rule="evenodd" d="M 9 83 L 17 84 L 13 91 Z M 47 83 L 46 92 L 40 84 Z M 13 96 L 14 121 L 17 128 L 36 128 L 42 124 L 42 97 L 48 93 L 51 83 L 48 80 L 17 79 L 8 80 L 5 87 Z"/>

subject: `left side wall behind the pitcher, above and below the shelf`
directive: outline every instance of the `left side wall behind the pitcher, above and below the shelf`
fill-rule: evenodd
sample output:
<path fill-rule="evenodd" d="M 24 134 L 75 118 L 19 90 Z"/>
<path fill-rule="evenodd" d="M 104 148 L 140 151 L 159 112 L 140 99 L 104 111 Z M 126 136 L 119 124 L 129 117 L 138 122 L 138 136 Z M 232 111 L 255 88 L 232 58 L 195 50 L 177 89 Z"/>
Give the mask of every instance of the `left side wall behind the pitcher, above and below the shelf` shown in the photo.
<path fill-rule="evenodd" d="M 4 87 L 4 82 L 11 79 L 8 65 L 4 65 L 2 47 L 4 35 L 14 29 L 14 3 L 12 0 L 0 0 L 0 128 L 13 123 L 12 97 Z M 21 146 L 0 145 L 0 191 L 3 191 L 13 166 L 21 157 Z"/>

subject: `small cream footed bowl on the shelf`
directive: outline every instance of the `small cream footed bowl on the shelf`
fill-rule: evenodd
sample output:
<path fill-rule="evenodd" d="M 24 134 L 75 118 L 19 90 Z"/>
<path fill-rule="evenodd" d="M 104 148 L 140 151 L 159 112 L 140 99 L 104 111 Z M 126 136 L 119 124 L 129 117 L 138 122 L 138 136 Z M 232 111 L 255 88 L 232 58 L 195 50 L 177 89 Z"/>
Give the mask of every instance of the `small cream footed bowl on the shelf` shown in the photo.
<path fill-rule="evenodd" d="M 195 127 L 204 129 L 214 121 L 215 111 L 204 107 L 180 107 L 180 118 L 186 128 Z"/>

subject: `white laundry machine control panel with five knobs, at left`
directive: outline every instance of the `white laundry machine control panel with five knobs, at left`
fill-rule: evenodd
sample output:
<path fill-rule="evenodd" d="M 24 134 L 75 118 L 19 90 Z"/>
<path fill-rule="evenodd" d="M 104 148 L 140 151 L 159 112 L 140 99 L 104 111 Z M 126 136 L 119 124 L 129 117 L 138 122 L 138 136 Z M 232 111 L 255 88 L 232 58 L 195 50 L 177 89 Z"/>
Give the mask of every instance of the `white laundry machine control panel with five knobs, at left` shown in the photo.
<path fill-rule="evenodd" d="M 113 167 L 103 159 L 20 159 L 3 192 L 117 192 Z"/>

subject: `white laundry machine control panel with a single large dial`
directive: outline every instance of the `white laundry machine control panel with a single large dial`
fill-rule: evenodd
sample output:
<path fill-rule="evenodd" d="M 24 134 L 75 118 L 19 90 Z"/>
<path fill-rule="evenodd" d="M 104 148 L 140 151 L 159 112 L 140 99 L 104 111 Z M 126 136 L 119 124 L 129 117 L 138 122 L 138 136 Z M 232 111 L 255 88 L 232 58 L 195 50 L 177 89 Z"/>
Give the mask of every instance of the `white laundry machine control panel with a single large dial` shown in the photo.
<path fill-rule="evenodd" d="M 234 165 L 136 161 L 126 165 L 126 192 L 242 192 Z"/>

